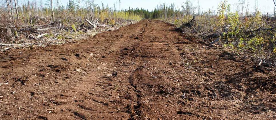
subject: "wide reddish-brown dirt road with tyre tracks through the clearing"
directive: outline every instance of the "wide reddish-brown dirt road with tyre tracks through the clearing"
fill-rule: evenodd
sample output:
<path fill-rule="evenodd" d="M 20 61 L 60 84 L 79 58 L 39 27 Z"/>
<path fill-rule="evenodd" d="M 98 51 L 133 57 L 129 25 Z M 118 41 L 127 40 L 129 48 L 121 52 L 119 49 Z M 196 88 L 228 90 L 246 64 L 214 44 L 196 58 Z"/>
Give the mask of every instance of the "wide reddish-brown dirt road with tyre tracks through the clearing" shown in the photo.
<path fill-rule="evenodd" d="M 275 73 L 142 20 L 0 53 L 0 119 L 276 119 Z"/>

